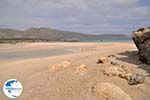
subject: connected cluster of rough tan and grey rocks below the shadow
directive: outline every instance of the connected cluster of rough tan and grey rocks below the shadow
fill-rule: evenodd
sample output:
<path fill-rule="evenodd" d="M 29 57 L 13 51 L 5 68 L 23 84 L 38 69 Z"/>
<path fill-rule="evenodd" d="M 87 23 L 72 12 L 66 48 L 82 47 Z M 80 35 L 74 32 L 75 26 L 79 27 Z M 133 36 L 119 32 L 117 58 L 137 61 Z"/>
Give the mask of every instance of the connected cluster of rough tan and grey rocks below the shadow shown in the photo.
<path fill-rule="evenodd" d="M 112 60 L 112 58 L 115 58 L 115 56 L 110 55 L 108 57 L 100 57 L 98 59 L 97 63 L 110 64 L 109 67 L 106 67 L 105 69 L 101 70 L 104 75 L 117 76 L 119 78 L 126 79 L 129 85 L 137 85 L 144 83 L 145 76 L 138 73 L 132 73 L 129 67 L 125 65 L 120 65 L 120 63 L 117 62 L 117 60 Z"/>

